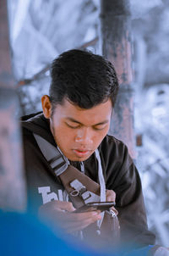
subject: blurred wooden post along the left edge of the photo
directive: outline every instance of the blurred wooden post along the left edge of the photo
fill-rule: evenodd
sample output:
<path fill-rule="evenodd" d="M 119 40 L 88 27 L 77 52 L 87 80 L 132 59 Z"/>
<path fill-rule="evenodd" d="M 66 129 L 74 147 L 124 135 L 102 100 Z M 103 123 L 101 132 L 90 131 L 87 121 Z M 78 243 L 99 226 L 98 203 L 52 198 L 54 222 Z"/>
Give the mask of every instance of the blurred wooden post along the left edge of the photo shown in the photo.
<path fill-rule="evenodd" d="M 8 15 L 0 1 L 0 209 L 25 210 L 26 190 L 21 150 L 19 108 L 8 41 Z"/>

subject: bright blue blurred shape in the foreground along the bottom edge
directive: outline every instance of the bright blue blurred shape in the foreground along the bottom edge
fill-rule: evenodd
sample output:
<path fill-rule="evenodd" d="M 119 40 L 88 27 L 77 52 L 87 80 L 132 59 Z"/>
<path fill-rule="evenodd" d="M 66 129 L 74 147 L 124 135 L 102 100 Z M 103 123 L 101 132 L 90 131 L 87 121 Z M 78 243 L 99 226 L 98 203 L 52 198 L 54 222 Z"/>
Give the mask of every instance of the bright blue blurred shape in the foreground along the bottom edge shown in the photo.
<path fill-rule="evenodd" d="M 5 256 L 148 256 L 148 246 L 130 253 L 109 252 L 99 253 L 71 242 L 66 242 L 58 230 L 54 235 L 45 225 L 29 214 L 0 212 L 0 255 Z"/>

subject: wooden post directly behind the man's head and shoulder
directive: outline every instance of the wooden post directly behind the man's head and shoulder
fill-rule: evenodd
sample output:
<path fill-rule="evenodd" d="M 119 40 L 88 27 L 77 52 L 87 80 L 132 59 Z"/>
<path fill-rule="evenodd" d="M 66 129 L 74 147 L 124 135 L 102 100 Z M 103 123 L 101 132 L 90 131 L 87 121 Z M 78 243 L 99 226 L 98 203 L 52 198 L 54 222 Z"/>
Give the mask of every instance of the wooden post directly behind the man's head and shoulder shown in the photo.
<path fill-rule="evenodd" d="M 129 0 L 101 0 L 100 18 L 101 54 L 112 62 L 120 82 L 109 133 L 125 142 L 135 158 Z"/>

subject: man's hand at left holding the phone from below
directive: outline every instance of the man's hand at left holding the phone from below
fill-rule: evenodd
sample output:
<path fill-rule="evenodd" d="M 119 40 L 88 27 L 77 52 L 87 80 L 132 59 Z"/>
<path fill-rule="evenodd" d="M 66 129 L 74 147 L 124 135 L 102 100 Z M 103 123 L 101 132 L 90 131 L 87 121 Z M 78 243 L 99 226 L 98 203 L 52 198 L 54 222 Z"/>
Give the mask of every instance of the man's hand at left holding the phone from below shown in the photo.
<path fill-rule="evenodd" d="M 59 225 L 68 233 L 81 231 L 96 220 L 101 220 L 101 211 L 74 213 L 74 210 L 72 203 L 52 201 L 41 205 L 39 216 L 52 228 Z"/>

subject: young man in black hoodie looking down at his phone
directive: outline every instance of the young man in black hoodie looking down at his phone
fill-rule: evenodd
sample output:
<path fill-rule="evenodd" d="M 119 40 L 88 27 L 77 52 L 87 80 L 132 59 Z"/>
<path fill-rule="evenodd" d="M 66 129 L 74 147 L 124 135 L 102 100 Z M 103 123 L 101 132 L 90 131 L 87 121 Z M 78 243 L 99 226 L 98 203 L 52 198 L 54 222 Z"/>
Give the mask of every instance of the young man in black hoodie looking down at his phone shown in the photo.
<path fill-rule="evenodd" d="M 112 64 L 99 55 L 71 50 L 53 61 L 51 76 L 49 96 L 41 98 L 43 113 L 22 121 L 30 208 L 39 209 L 52 225 L 59 222 L 70 233 L 87 231 L 101 220 L 97 210 L 72 212 L 68 193 L 35 140 L 39 135 L 93 181 L 99 183 L 98 170 L 102 170 L 106 201 L 116 196 L 123 241 L 128 238 L 140 246 L 153 244 L 138 170 L 123 142 L 107 135 L 118 91 Z"/>

